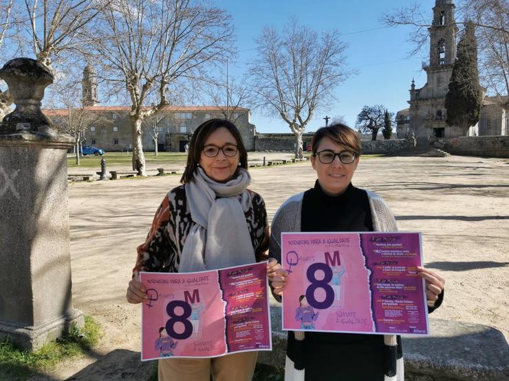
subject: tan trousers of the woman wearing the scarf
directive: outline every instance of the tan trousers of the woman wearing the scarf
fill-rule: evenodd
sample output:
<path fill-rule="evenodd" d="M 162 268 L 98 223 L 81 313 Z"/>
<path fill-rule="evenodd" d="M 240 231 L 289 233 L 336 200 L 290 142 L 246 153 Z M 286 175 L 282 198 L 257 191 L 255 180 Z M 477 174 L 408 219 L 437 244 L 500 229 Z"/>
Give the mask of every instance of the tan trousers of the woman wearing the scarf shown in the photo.
<path fill-rule="evenodd" d="M 241 352 L 215 358 L 159 360 L 159 381 L 251 381 L 258 352 Z"/>

